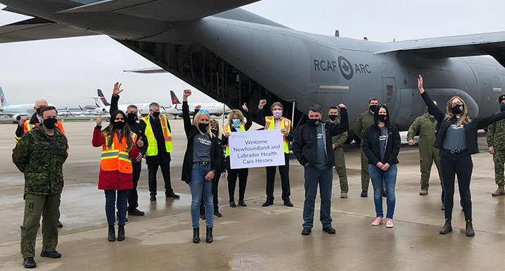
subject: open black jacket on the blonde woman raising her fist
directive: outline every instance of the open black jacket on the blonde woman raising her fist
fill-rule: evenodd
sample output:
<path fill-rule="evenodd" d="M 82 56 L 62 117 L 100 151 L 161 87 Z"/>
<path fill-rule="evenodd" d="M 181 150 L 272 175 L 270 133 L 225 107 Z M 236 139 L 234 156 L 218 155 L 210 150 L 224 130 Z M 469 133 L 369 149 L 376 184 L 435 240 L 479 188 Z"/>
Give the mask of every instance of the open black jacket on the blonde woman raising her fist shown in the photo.
<path fill-rule="evenodd" d="M 191 170 L 193 168 L 193 137 L 195 137 L 195 134 L 199 133 L 200 130 L 191 123 L 187 101 L 182 102 L 182 118 L 184 120 L 184 132 L 186 132 L 188 146 L 186 147 L 186 153 L 184 153 L 184 160 L 182 161 L 181 180 L 188 184 L 191 181 Z M 222 149 L 219 147 L 217 137 L 212 137 L 210 141 L 212 142 L 210 148 L 210 168 L 215 170 L 215 174 L 219 174 L 222 170 Z"/>

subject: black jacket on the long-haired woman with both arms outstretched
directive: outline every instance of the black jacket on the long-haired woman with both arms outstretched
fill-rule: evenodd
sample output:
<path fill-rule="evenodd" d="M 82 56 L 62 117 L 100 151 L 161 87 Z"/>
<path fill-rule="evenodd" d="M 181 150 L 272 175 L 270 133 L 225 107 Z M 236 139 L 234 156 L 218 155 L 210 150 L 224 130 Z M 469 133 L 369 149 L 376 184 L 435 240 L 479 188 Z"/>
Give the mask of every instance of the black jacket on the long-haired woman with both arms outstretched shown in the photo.
<path fill-rule="evenodd" d="M 453 125 L 456 122 L 456 118 L 452 120 L 447 120 L 445 118 L 445 113 L 440 110 L 435 104 L 433 104 L 433 100 L 428 96 L 426 92 L 421 94 L 421 97 L 428 106 L 428 113 L 435 116 L 435 119 L 440 124 L 438 128 L 437 138 L 435 139 L 435 148 L 442 149 L 442 140 L 444 139 L 445 130 L 447 127 Z M 483 118 L 471 118 L 471 122 L 465 123 L 464 128 L 466 132 L 466 151 L 469 154 L 478 153 L 479 148 L 477 144 L 477 130 L 484 129 L 487 125 L 490 125 L 493 122 L 497 122 L 498 120 L 505 118 L 505 111 L 494 113 L 493 115 L 483 117 Z"/>

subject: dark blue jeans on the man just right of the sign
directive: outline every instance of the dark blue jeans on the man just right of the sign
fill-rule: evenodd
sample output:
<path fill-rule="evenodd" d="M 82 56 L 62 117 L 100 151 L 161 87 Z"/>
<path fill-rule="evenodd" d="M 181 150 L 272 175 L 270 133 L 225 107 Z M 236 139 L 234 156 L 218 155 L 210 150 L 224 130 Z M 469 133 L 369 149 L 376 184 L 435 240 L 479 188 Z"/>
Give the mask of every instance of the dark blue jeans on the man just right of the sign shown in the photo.
<path fill-rule="evenodd" d="M 314 205 L 319 184 L 321 196 L 321 212 L 319 220 L 323 227 L 331 226 L 331 185 L 333 184 L 333 171 L 317 170 L 314 165 L 305 166 L 305 202 L 303 203 L 303 227 L 314 227 Z"/>

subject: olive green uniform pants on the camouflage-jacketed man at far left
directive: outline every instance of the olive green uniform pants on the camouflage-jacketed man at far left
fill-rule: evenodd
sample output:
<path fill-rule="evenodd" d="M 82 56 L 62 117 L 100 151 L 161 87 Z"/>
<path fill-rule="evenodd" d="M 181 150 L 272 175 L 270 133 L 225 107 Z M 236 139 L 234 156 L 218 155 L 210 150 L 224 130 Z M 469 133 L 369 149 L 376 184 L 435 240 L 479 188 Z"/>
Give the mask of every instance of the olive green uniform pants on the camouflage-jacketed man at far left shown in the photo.
<path fill-rule="evenodd" d="M 21 254 L 35 256 L 35 240 L 42 216 L 42 251 L 56 251 L 58 245 L 58 215 L 61 194 L 25 195 L 25 216 L 21 226 Z"/>

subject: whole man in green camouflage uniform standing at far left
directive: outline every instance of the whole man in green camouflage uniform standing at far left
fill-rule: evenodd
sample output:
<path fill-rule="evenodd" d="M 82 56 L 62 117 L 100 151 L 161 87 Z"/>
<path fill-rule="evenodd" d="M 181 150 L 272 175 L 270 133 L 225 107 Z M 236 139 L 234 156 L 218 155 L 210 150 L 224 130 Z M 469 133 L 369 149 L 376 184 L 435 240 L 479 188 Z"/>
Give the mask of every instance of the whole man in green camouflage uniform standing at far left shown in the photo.
<path fill-rule="evenodd" d="M 53 106 L 41 110 L 41 123 L 25 132 L 13 149 L 13 163 L 25 174 L 25 215 L 21 226 L 21 254 L 26 268 L 36 267 L 35 240 L 42 215 L 41 257 L 60 258 L 58 209 L 63 189 L 63 163 L 68 157 L 67 138 L 56 127 Z"/>

